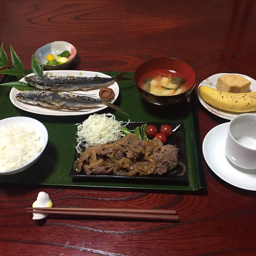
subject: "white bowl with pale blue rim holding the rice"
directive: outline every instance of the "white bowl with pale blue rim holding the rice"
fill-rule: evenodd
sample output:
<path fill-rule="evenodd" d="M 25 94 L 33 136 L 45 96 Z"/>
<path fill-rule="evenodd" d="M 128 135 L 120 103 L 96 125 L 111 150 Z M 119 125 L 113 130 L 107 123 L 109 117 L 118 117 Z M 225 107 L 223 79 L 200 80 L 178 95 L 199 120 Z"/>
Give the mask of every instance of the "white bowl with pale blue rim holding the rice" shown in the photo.
<path fill-rule="evenodd" d="M 9 117 L 0 120 L 0 127 L 2 126 L 10 126 L 10 125 L 26 125 L 30 126 L 34 129 L 34 131 L 40 135 L 40 140 L 43 144 L 41 152 L 39 152 L 34 159 L 32 159 L 30 162 L 27 164 L 20 166 L 16 169 L 5 171 L 5 172 L 0 172 L 0 175 L 8 175 L 8 174 L 15 174 L 18 172 L 22 172 L 26 169 L 28 169 L 30 166 L 32 166 L 42 155 L 47 142 L 48 142 L 48 132 L 45 126 L 39 122 L 38 120 L 30 117 L 25 117 L 25 116 L 15 116 L 15 117 Z M 12 156 L 10 156 L 12 157 Z"/>

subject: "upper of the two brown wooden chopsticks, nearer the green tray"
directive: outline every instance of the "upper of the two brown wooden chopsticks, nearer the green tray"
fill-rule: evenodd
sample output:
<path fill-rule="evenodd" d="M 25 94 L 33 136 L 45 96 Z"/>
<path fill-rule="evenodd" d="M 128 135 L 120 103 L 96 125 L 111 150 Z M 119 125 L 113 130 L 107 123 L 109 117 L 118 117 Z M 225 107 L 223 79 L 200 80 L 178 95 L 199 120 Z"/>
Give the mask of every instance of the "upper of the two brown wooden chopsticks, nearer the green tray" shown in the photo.
<path fill-rule="evenodd" d="M 120 213 L 144 213 L 144 214 L 168 214 L 176 215 L 175 210 L 158 210 L 158 209 L 123 209 L 123 208 L 68 208 L 68 207 L 28 207 L 27 210 L 40 211 L 83 211 L 83 212 L 120 212 Z"/>

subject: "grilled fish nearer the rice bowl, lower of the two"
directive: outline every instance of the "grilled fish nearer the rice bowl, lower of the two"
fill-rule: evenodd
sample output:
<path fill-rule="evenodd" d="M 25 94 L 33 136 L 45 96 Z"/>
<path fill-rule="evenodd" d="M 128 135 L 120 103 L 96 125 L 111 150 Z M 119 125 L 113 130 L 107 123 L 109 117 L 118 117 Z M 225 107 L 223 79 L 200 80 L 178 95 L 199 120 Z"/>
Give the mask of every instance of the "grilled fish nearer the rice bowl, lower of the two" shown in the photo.
<path fill-rule="evenodd" d="M 119 107 L 111 104 L 106 100 L 95 99 L 87 96 L 80 96 L 75 94 L 67 94 L 64 92 L 52 91 L 21 91 L 16 94 L 16 99 L 33 105 L 41 105 L 43 107 L 67 110 L 86 110 L 88 107 L 95 107 L 104 104 L 111 107 L 124 115 L 128 114 Z"/>

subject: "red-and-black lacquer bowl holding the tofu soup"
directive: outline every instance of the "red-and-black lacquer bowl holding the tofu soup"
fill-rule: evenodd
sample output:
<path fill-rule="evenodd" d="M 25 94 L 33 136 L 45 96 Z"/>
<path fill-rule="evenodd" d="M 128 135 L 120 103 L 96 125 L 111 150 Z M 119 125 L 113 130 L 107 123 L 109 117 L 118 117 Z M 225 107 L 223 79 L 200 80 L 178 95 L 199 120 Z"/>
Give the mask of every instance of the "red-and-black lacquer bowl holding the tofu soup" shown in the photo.
<path fill-rule="evenodd" d="M 160 96 L 143 90 L 139 86 L 139 80 L 142 76 L 150 71 L 159 69 L 170 70 L 173 74 L 177 72 L 177 76 L 185 78 L 186 81 L 184 84 L 186 83 L 186 91 L 177 95 Z M 135 82 L 141 97 L 145 101 L 155 105 L 173 105 L 187 99 L 192 93 L 196 84 L 196 71 L 188 63 L 182 60 L 168 57 L 156 58 L 144 62 L 137 68 L 135 72 Z"/>

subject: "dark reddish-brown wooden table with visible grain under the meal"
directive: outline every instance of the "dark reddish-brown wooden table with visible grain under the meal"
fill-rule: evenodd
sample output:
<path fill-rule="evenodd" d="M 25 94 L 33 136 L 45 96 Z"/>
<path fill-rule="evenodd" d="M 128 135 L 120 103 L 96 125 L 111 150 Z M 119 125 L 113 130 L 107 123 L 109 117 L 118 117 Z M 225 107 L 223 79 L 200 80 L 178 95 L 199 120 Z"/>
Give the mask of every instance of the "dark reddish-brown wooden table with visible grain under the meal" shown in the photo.
<path fill-rule="evenodd" d="M 25 68 L 55 40 L 76 46 L 70 69 L 77 70 L 135 71 L 175 57 L 196 69 L 197 87 L 215 73 L 256 77 L 255 15 L 253 0 L 2 1 L 0 38 Z M 198 117 L 201 142 L 228 121 L 199 103 Z M 206 195 L 1 185 L 0 255 L 256 255 L 255 192 L 229 185 L 206 164 L 205 175 Z M 37 225 L 24 208 L 42 190 L 55 206 L 176 209 L 180 222 L 58 217 Z"/>

